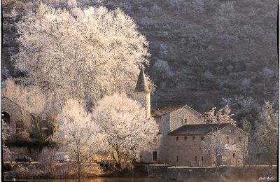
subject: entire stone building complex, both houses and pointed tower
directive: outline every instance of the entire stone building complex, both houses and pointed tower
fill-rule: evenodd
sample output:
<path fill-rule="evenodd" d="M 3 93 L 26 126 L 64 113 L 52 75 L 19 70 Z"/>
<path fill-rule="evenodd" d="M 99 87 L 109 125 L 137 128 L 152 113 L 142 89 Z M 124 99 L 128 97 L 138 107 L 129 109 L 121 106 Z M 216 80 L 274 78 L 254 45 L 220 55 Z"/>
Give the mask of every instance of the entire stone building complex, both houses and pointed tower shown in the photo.
<path fill-rule="evenodd" d="M 159 144 L 150 151 L 142 151 L 141 162 L 188 166 L 212 166 L 216 162 L 243 165 L 248 141 L 246 132 L 229 123 L 204 124 L 204 116 L 186 104 L 151 113 L 151 93 L 143 68 L 133 94 L 134 100 L 146 109 L 146 117 L 153 117 L 160 130 Z M 225 141 L 214 142 L 216 138 Z M 216 148 L 219 153 L 223 151 L 216 156 L 218 161 L 214 158 L 215 146 L 219 146 Z"/>

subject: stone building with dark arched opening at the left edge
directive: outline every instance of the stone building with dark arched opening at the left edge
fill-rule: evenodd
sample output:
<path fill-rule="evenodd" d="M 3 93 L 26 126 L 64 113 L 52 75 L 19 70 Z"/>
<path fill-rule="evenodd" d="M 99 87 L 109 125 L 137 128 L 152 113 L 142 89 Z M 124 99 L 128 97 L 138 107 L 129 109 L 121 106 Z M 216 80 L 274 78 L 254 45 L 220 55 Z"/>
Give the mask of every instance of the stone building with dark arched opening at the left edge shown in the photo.
<path fill-rule="evenodd" d="M 6 97 L 1 98 L 1 118 L 8 123 L 10 134 L 28 130 L 32 115 Z"/>

